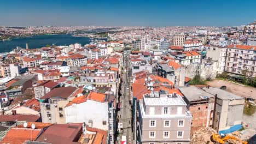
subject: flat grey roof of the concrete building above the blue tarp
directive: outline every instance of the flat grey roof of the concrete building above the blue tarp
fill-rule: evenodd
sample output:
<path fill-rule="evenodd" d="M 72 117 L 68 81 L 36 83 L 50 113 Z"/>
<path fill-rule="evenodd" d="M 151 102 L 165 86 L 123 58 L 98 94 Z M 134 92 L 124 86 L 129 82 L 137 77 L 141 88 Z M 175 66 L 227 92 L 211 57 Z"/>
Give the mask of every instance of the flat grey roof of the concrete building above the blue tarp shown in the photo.
<path fill-rule="evenodd" d="M 243 97 L 239 97 L 235 94 L 226 92 L 226 91 L 216 88 L 216 87 L 203 88 L 203 91 L 206 91 L 207 93 L 210 93 L 212 95 L 217 94 L 217 97 L 222 100 L 245 99 Z"/>

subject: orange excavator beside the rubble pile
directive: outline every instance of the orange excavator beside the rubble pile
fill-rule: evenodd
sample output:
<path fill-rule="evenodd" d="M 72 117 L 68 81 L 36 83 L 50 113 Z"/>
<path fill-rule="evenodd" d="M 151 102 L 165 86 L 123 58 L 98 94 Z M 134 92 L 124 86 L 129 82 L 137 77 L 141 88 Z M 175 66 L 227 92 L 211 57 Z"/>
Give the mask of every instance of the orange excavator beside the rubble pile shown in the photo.
<path fill-rule="evenodd" d="M 229 143 L 228 140 L 236 140 L 242 142 L 242 144 L 247 144 L 247 141 L 242 141 L 234 136 L 229 136 L 229 135 L 218 135 L 218 134 L 213 134 L 212 135 L 212 140 L 216 144 L 226 144 Z"/>

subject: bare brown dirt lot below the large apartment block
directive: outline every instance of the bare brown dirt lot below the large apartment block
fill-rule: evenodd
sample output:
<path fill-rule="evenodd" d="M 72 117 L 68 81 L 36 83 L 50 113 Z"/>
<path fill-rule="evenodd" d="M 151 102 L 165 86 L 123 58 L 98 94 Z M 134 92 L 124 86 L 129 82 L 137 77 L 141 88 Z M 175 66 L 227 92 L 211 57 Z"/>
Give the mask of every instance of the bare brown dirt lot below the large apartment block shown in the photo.
<path fill-rule="evenodd" d="M 222 86 L 226 86 L 226 91 L 236 94 L 238 96 L 241 97 L 250 97 L 253 96 L 256 98 L 256 88 L 254 87 L 249 87 L 249 86 L 243 86 L 241 84 L 237 84 L 237 83 L 232 83 L 232 82 L 228 82 L 228 81 L 223 81 L 223 80 L 212 80 L 207 82 L 208 85 L 212 86 L 212 87 L 222 87 Z"/>

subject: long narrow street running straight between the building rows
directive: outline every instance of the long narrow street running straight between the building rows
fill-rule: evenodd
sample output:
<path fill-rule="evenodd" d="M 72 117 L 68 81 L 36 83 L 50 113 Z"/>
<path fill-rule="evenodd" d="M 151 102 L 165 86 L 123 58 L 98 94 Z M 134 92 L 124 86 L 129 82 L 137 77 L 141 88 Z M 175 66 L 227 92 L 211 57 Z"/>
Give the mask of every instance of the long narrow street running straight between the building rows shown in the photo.
<path fill-rule="evenodd" d="M 124 65 L 123 68 L 124 69 L 129 69 L 129 61 L 127 60 L 127 57 L 129 57 L 128 55 L 125 55 L 124 57 Z M 132 128 L 131 128 L 131 105 L 129 103 L 129 89 L 127 89 L 127 87 L 129 87 L 129 77 L 127 76 L 127 74 L 123 74 L 123 85 L 121 86 L 122 89 L 122 95 L 120 97 L 120 101 L 121 101 L 121 110 L 119 112 L 119 117 L 120 117 L 120 123 L 123 123 L 123 130 L 124 133 L 120 134 L 121 135 L 125 135 L 126 136 L 126 142 L 127 143 L 132 143 L 133 141 L 133 136 L 132 136 Z M 120 137 L 121 139 L 121 137 Z"/>

